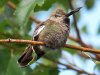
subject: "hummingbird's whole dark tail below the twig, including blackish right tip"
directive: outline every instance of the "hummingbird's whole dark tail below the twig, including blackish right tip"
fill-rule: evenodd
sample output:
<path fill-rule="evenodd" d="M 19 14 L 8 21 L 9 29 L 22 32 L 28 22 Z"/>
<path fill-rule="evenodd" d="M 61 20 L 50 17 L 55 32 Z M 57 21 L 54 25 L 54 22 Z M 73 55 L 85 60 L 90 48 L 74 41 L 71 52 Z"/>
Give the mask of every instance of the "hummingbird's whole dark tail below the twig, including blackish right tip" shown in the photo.
<path fill-rule="evenodd" d="M 18 63 L 21 67 L 25 67 L 38 60 L 44 54 L 45 53 L 41 51 L 37 46 L 33 48 L 32 45 L 28 45 L 28 47 L 26 47 L 25 51 L 18 59 Z"/>

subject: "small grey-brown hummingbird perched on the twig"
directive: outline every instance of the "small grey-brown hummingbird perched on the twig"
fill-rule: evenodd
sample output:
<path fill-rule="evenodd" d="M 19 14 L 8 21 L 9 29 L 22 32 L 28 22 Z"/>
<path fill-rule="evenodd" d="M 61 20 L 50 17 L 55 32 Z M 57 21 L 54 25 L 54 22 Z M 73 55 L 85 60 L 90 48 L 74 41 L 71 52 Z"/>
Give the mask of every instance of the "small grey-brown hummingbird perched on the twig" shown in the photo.
<path fill-rule="evenodd" d="M 40 23 L 33 32 L 32 41 L 45 42 L 45 46 L 29 44 L 18 63 L 25 67 L 42 57 L 48 49 L 55 50 L 64 46 L 70 32 L 69 16 L 78 12 L 81 7 L 66 13 L 63 9 L 57 9 L 49 19 Z"/>

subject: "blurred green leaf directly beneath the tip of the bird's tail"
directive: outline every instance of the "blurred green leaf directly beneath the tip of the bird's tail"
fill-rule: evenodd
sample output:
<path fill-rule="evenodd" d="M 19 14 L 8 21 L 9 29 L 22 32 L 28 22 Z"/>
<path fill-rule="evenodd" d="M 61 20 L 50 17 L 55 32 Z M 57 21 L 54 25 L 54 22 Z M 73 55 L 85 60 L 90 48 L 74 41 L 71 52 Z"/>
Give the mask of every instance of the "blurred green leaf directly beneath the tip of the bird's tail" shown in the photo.
<path fill-rule="evenodd" d="M 31 75 L 32 70 L 29 67 L 21 68 L 17 64 L 17 59 L 18 56 L 12 55 L 5 75 Z"/>

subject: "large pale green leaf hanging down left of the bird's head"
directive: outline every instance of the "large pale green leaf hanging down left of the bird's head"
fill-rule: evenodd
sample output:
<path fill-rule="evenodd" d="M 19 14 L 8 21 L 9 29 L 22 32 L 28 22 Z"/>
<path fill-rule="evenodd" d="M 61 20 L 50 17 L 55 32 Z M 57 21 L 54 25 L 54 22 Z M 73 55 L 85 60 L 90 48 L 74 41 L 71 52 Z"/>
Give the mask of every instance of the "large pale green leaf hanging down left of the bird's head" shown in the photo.
<path fill-rule="evenodd" d="M 42 6 L 44 0 L 21 0 L 15 11 L 16 21 L 20 26 L 21 35 L 27 35 L 31 29 L 31 21 L 29 19 L 36 4 Z"/>

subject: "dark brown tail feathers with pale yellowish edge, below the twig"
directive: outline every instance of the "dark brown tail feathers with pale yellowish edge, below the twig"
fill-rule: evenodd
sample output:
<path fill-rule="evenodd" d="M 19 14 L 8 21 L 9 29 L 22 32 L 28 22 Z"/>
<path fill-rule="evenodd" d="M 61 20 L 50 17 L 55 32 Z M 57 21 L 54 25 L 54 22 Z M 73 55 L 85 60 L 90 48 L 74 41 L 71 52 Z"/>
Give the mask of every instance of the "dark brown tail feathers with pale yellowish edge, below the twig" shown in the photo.
<path fill-rule="evenodd" d="M 18 59 L 18 63 L 21 67 L 29 65 L 31 62 L 36 61 L 37 54 L 35 53 L 33 46 L 28 45 L 28 47 L 25 49 L 23 54 Z"/>

